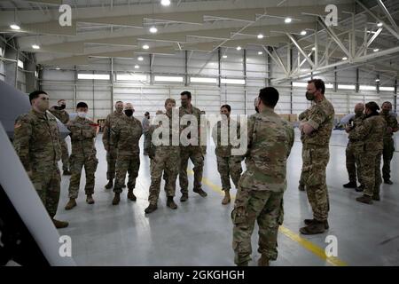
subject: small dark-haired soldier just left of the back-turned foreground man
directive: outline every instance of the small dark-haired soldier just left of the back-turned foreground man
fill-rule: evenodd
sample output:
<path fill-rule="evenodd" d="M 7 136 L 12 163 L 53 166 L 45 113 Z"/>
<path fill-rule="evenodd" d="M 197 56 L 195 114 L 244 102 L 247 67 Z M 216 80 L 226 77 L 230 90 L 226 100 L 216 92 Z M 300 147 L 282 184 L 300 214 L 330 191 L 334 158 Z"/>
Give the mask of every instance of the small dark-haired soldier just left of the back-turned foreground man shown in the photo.
<path fill-rule="evenodd" d="M 237 156 L 231 155 L 231 139 L 230 130 L 231 126 L 237 129 L 237 138 L 239 138 L 239 122 L 236 122 L 230 118 L 231 106 L 223 105 L 220 108 L 222 114 L 222 122 L 217 122 L 214 129 L 212 130 L 212 138 L 215 141 L 215 154 L 217 162 L 217 170 L 219 171 L 222 180 L 222 190 L 224 191 L 224 198 L 222 204 L 228 204 L 231 201 L 230 196 L 230 177 L 236 186 L 239 188 L 239 177 L 241 177 L 241 160 Z M 227 129 L 227 145 L 222 145 L 222 127 Z"/>

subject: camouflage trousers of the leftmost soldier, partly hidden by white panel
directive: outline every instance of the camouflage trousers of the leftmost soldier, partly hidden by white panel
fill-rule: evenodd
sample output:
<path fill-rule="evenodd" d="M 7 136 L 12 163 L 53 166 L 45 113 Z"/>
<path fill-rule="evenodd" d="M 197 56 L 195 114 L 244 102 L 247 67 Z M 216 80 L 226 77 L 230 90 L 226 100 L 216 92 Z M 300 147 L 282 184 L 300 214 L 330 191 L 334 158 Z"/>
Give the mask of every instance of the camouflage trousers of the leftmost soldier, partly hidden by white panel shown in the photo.
<path fill-rule="evenodd" d="M 59 207 L 61 182 L 59 166 L 54 164 L 51 170 L 45 172 L 33 171 L 30 180 L 50 217 L 54 217 Z"/>

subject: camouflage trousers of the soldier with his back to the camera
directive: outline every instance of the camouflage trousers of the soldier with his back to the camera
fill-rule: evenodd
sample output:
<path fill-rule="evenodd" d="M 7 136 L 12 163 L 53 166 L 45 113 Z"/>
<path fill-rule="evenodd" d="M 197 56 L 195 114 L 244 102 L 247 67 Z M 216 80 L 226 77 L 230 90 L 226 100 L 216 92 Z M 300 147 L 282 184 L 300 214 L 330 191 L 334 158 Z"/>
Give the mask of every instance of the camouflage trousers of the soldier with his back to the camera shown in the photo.
<path fill-rule="evenodd" d="M 283 194 L 239 187 L 231 212 L 235 264 L 251 260 L 251 236 L 255 221 L 259 225 L 258 252 L 270 260 L 277 259 L 278 226 L 283 224 L 284 218 Z"/>

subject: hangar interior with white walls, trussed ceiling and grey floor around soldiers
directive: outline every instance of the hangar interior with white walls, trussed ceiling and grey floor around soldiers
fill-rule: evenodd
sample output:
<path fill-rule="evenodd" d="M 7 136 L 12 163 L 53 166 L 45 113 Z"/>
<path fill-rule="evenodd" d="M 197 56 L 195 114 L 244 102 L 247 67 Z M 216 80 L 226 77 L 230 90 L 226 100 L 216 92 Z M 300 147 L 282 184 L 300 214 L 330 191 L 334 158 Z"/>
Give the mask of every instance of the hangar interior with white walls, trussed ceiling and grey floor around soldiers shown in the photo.
<path fill-rule="evenodd" d="M 325 96 L 335 108 L 337 124 L 358 102 L 376 101 L 380 106 L 389 101 L 396 112 L 399 3 L 395 0 L 160 2 L 2 1 L 0 80 L 27 93 L 46 91 L 51 106 L 66 99 L 69 113 L 84 101 L 95 121 L 105 119 L 118 100 L 131 102 L 139 120 L 146 111 L 154 116 L 164 108 L 165 99 L 176 99 L 180 106 L 185 90 L 192 92 L 192 104 L 206 114 L 219 114 L 220 106 L 229 104 L 232 114 L 249 115 L 254 114 L 259 90 L 273 86 L 280 94 L 276 112 L 295 124 L 297 114 L 310 106 L 305 98 L 310 78 L 325 81 Z M 68 5 L 65 10 L 60 10 L 62 4 Z M 68 7 L 71 22 L 65 25 Z M 306 194 L 297 189 L 301 141 L 295 131 L 287 167 L 285 223 L 280 228 L 278 261 L 273 264 L 398 265 L 397 151 L 391 164 L 394 185 L 382 185 L 382 199 L 372 207 L 356 204 L 357 193 L 342 188 L 348 182 L 348 138 L 345 131 L 333 130 L 327 168 L 331 229 L 304 237 L 298 228 L 311 209 Z M 176 211 L 160 206 L 146 217 L 148 157 L 141 156 L 137 203 L 122 199 L 124 203 L 114 208 L 112 192 L 104 189 L 106 152 L 101 135 L 96 141 L 96 204 L 85 204 L 81 192 L 78 207 L 65 211 L 69 177 L 62 177 L 58 216 L 69 220 L 70 226 L 60 233 L 73 238 L 77 264 L 233 265 L 232 203 L 220 204 L 212 141 L 203 179 L 207 198 L 191 192 L 192 199 L 179 203 Z M 70 149 L 68 139 L 67 143 Z M 396 149 L 397 145 L 396 134 Z M 82 187 L 81 183 L 81 191 Z M 338 240 L 336 257 L 324 254 L 329 235 Z"/>

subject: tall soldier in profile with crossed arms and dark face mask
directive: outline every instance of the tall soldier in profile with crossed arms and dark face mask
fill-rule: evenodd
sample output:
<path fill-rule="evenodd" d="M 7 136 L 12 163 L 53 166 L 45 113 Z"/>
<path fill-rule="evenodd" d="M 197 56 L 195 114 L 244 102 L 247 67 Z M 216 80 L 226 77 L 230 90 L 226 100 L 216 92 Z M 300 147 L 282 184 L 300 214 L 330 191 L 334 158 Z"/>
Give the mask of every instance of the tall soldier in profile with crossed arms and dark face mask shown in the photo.
<path fill-rule="evenodd" d="M 324 233 L 328 229 L 328 189 L 325 170 L 330 159 L 329 142 L 334 122 L 334 107 L 325 99 L 325 83 L 321 79 L 308 82 L 306 98 L 314 104 L 309 108 L 308 121 L 302 122 L 302 175 L 313 210 L 313 219 L 305 219 L 303 234 Z"/>

